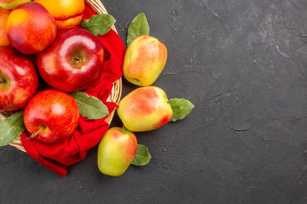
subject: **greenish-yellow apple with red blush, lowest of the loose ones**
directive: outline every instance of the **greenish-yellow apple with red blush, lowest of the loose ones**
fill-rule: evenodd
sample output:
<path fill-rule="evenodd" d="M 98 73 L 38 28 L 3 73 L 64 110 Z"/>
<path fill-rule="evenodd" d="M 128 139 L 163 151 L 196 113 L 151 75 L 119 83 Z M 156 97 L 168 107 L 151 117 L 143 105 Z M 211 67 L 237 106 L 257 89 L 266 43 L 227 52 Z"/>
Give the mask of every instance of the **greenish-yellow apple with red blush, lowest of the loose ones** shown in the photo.
<path fill-rule="evenodd" d="M 136 136 L 125 128 L 113 127 L 106 131 L 98 146 L 98 168 L 109 176 L 121 176 L 134 159 Z"/>

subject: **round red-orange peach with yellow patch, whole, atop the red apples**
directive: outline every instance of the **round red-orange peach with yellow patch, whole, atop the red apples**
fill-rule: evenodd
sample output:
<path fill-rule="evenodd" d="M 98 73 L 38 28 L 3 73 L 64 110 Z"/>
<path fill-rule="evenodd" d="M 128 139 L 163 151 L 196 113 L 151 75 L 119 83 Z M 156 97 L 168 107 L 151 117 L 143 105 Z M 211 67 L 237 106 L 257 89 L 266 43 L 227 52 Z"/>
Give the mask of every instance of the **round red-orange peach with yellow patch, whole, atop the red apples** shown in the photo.
<path fill-rule="evenodd" d="M 26 2 L 11 11 L 5 23 L 6 36 L 16 49 L 34 54 L 46 49 L 54 40 L 54 18 L 37 2 Z"/>

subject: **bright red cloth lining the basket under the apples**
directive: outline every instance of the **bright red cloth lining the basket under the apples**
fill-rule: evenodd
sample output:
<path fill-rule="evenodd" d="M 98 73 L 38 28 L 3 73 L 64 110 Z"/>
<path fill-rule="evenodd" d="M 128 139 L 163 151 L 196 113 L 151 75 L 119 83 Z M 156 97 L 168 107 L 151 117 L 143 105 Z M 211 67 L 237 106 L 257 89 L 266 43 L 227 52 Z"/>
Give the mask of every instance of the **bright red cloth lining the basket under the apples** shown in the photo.
<path fill-rule="evenodd" d="M 96 13 L 86 5 L 83 19 L 88 19 L 93 15 L 96 15 Z M 102 100 L 111 113 L 116 107 L 116 103 L 106 102 L 106 99 L 112 89 L 112 83 L 123 74 L 122 65 L 126 48 L 119 35 L 112 29 L 107 34 L 98 36 L 98 38 L 106 52 L 103 74 L 95 87 L 91 87 L 84 92 Z M 59 176 L 65 177 L 67 174 L 66 168 L 84 159 L 87 151 L 100 142 L 108 129 L 108 124 L 104 121 L 105 118 L 90 120 L 80 115 L 79 126 L 74 135 L 60 143 L 47 144 L 37 139 L 26 141 L 29 136 L 26 131 L 21 135 L 21 141 L 29 156 Z"/>

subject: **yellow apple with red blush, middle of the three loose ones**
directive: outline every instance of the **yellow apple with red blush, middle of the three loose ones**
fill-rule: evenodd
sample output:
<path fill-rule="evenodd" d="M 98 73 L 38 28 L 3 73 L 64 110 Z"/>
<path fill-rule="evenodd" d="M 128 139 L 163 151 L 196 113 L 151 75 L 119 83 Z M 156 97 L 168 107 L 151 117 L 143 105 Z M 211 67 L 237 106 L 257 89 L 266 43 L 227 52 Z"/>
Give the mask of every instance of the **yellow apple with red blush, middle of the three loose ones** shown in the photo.
<path fill-rule="evenodd" d="M 133 132 L 150 131 L 167 124 L 173 115 L 166 93 L 158 87 L 131 91 L 118 104 L 118 116 Z"/>

